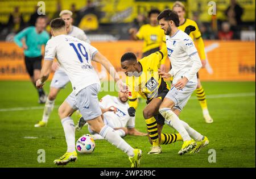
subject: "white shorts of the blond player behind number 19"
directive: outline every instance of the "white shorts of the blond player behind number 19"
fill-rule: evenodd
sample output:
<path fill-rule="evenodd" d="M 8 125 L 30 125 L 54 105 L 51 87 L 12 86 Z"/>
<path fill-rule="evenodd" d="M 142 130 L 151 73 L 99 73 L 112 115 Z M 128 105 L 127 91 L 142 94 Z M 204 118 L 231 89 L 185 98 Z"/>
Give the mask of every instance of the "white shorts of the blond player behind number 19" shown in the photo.
<path fill-rule="evenodd" d="M 69 82 L 67 74 L 62 69 L 57 69 L 54 73 L 50 87 L 52 88 L 64 88 Z"/>

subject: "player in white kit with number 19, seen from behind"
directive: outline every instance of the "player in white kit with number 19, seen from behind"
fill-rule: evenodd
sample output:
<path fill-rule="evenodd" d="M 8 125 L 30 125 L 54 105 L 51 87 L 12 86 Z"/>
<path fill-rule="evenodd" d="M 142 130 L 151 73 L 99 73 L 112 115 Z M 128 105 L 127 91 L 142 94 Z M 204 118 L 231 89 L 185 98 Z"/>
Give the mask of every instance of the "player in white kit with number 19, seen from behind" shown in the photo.
<path fill-rule="evenodd" d="M 50 23 L 52 39 L 46 44 L 44 64 L 40 73 L 40 79 L 36 86 L 42 88 L 49 77 L 53 59 L 59 61 L 71 81 L 73 91 L 59 107 L 59 116 L 63 125 L 67 152 L 54 161 L 57 165 L 65 165 L 69 161 L 77 160 L 75 149 L 75 125 L 71 115 L 79 109 L 87 120 L 92 130 L 100 134 L 104 139 L 127 153 L 131 161 L 131 167 L 138 167 L 142 151 L 134 149 L 126 143 L 113 128 L 106 126 L 101 118 L 101 109 L 98 103 L 98 91 L 100 90 L 100 79 L 94 70 L 91 61 L 102 64 L 108 72 L 114 70 L 113 65 L 106 57 L 101 55 L 96 48 L 77 38 L 67 35 L 65 21 L 61 18 L 53 19 Z M 119 78 L 117 72 L 110 73 L 121 90 L 126 87 Z"/>

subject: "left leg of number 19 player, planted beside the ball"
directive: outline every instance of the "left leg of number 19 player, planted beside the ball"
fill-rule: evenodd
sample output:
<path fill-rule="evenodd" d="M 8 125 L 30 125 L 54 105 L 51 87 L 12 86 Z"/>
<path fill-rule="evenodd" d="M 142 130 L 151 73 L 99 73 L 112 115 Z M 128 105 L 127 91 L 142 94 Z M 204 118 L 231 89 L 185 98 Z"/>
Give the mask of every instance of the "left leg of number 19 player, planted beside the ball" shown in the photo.
<path fill-rule="evenodd" d="M 77 160 L 75 145 L 75 124 L 71 118 L 71 115 L 76 110 L 77 107 L 75 95 L 71 93 L 68 98 L 60 105 L 58 111 L 67 143 L 67 152 L 59 159 L 53 161 L 57 165 L 66 165 L 69 163 L 69 161 Z"/>

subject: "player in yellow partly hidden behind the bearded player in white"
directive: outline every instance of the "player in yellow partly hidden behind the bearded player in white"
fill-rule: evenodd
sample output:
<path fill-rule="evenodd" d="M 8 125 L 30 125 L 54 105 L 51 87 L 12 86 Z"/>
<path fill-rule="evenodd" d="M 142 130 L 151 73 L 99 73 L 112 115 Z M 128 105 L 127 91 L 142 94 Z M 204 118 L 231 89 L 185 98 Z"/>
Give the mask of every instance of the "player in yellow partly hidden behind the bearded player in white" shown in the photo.
<path fill-rule="evenodd" d="M 198 28 L 196 22 L 191 19 L 184 18 L 185 17 L 185 6 L 183 5 L 183 3 L 176 1 L 174 3 L 174 6 L 172 7 L 172 10 L 174 10 L 177 13 L 177 15 L 179 16 L 179 20 L 180 20 L 180 26 L 178 27 L 179 30 L 184 31 L 187 26 L 196 27 L 196 30 L 191 32 L 189 34 L 189 36 L 197 43 L 197 50 L 199 51 L 201 63 L 203 65 L 202 68 L 204 68 L 205 64 L 206 64 L 204 41 L 203 41 L 201 32 L 199 31 L 199 28 Z M 205 98 L 205 92 L 204 92 L 203 86 L 201 85 L 198 73 L 197 73 L 196 96 L 197 96 L 197 99 L 199 100 L 200 106 L 203 110 L 203 116 L 204 116 L 205 122 L 212 123 L 213 119 L 210 116 L 209 111 L 208 111 L 207 100 Z"/>

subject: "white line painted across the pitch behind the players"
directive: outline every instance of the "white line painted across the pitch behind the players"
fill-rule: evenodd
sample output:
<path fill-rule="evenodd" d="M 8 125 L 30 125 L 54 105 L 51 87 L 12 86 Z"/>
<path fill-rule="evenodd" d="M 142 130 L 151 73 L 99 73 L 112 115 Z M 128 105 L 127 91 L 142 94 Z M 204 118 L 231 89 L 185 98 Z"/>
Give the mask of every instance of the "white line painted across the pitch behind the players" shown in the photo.
<path fill-rule="evenodd" d="M 209 94 L 209 95 L 207 95 L 207 99 L 253 97 L 253 96 L 255 96 L 255 92 L 251 92 L 251 93 L 229 93 L 229 94 Z M 197 99 L 197 98 L 196 97 L 191 97 L 190 99 Z M 58 108 L 58 107 L 59 106 L 54 106 L 54 108 Z M 3 108 L 3 109 L 0 109 L 0 112 L 40 110 L 40 109 L 44 109 L 44 106 Z"/>

